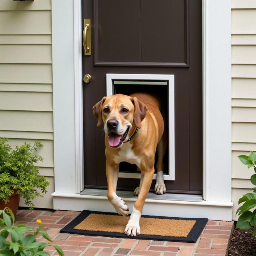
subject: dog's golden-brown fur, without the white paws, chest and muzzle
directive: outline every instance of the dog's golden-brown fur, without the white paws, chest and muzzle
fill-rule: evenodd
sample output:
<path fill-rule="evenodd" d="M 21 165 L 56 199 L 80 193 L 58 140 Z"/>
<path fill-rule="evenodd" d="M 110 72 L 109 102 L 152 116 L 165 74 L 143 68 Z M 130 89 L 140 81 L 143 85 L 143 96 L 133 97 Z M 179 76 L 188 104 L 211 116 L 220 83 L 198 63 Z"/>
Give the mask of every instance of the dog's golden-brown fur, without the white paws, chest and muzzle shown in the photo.
<path fill-rule="evenodd" d="M 109 112 L 105 113 L 103 111 L 104 108 L 108 108 Z M 129 110 L 128 113 L 122 113 L 121 110 L 123 108 Z M 142 213 L 143 205 L 154 175 L 156 148 L 158 149 L 157 172 L 163 170 L 163 157 L 166 151 L 167 136 L 166 133 L 164 133 L 164 120 L 160 112 L 160 102 L 150 94 L 134 93 L 130 96 L 116 94 L 103 97 L 102 100 L 93 107 L 93 113 L 98 119 L 98 127 L 103 121 L 105 132 L 106 122 L 109 119 L 118 120 L 122 127 L 127 127 L 130 123 L 131 127 L 126 140 L 133 135 L 137 127 L 139 128 L 136 136 L 125 144 L 129 144 L 129 150 L 130 148 L 133 150 L 134 161 L 137 163 L 137 167 L 141 170 L 142 174 L 138 199 L 134 204 L 134 208 Z M 126 151 L 125 149 L 123 150 L 124 144 L 119 148 L 110 147 L 108 144 L 108 134 L 105 135 L 105 144 L 108 199 L 112 202 L 114 197 L 116 197 L 115 193 L 119 171 L 119 163 L 116 159 L 120 157 L 120 153 L 127 153 L 128 149 Z M 121 150 L 123 151 L 121 152 Z M 127 159 L 127 162 L 129 162 L 129 159 Z M 127 210 L 125 211 L 125 214 L 126 213 L 128 213 Z M 123 213 L 121 212 L 121 214 Z"/>

